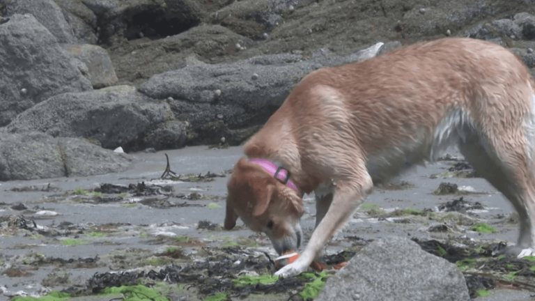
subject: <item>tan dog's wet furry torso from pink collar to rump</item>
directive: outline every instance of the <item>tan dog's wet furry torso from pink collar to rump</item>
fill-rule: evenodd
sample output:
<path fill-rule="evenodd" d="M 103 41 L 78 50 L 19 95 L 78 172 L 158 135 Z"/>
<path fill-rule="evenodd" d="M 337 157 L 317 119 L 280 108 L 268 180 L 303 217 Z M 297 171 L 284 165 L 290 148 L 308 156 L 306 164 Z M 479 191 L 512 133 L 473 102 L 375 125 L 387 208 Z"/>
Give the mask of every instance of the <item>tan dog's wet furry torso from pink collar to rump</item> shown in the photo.
<path fill-rule="evenodd" d="M 472 131 L 510 139 L 502 133 L 531 118 L 532 82 L 518 57 L 493 43 L 419 43 L 312 72 L 249 144 L 292 145 L 285 155 L 300 156 L 287 160 L 310 156 L 331 173 L 340 156 L 350 161 L 361 148 L 374 180 L 387 180 L 407 164 L 435 160 Z"/>

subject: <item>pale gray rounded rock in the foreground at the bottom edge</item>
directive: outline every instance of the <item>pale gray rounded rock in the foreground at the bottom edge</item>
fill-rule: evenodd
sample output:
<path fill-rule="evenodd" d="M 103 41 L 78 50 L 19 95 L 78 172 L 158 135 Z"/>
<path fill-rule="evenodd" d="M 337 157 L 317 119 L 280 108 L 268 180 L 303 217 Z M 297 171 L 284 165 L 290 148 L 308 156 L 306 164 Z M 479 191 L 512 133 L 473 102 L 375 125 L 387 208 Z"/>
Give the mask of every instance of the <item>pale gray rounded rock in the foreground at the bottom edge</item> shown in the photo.
<path fill-rule="evenodd" d="M 470 295 L 456 265 L 391 236 L 362 248 L 327 280 L 316 300 L 460 301 Z"/>

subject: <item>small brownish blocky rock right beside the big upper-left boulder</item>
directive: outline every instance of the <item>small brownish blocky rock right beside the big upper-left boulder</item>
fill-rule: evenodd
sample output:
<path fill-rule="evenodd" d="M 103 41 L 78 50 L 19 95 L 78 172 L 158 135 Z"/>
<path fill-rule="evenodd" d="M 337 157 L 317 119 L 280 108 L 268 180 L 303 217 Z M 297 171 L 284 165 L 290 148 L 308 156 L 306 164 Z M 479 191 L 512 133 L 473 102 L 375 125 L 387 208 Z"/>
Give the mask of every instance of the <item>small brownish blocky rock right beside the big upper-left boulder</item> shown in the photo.
<path fill-rule="evenodd" d="M 117 82 L 114 65 L 106 49 L 97 45 L 63 45 L 68 54 L 79 59 L 87 67 L 88 79 L 93 88 L 104 88 Z"/>

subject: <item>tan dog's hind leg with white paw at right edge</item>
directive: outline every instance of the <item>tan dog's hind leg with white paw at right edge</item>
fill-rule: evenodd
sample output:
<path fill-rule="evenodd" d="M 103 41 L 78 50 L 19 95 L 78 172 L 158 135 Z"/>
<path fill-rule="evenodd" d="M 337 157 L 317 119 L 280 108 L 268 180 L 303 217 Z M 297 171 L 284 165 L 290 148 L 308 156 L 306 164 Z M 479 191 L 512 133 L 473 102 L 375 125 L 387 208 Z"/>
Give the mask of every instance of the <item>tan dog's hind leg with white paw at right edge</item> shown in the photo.
<path fill-rule="evenodd" d="M 460 142 L 459 149 L 476 172 L 511 201 L 520 216 L 517 245 L 508 247 L 506 254 L 527 256 L 535 254 L 535 179 L 530 171 L 529 150 L 519 146 L 518 141 L 513 144 L 509 140 L 515 134 L 525 133 L 502 133 L 498 139 L 493 139 L 498 145 L 493 145 L 490 139 L 474 131 Z"/>

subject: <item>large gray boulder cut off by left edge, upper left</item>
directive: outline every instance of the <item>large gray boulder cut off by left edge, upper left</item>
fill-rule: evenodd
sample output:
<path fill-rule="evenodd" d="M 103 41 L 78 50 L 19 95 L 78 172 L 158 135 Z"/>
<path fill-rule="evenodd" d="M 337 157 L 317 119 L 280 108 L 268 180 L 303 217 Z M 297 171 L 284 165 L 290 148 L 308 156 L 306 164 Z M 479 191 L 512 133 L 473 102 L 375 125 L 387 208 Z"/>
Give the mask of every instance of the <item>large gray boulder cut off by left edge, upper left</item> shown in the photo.
<path fill-rule="evenodd" d="M 56 38 L 31 15 L 0 24 L 0 126 L 38 102 L 91 90 Z"/>

